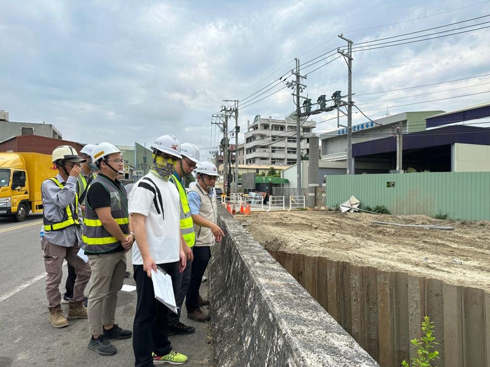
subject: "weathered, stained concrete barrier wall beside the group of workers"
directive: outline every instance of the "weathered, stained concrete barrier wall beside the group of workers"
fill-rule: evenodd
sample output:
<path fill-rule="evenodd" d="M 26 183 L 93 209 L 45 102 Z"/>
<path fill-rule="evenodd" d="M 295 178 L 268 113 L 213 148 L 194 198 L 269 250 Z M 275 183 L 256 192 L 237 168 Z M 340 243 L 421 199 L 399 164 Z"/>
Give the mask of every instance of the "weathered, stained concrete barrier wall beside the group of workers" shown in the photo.
<path fill-rule="evenodd" d="M 213 246 L 209 264 L 218 366 L 378 366 L 241 223 L 218 207 L 226 236 Z"/>

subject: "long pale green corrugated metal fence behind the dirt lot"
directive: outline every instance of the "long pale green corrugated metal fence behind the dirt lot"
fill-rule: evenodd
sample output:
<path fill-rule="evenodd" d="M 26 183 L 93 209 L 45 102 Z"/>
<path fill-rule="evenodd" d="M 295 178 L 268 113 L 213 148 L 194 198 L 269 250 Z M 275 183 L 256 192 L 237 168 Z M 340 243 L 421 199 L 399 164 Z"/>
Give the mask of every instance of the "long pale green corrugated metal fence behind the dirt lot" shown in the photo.
<path fill-rule="evenodd" d="M 392 214 L 490 220 L 490 172 L 327 176 L 325 193 L 330 207 L 354 195 L 361 207 L 384 205 Z"/>

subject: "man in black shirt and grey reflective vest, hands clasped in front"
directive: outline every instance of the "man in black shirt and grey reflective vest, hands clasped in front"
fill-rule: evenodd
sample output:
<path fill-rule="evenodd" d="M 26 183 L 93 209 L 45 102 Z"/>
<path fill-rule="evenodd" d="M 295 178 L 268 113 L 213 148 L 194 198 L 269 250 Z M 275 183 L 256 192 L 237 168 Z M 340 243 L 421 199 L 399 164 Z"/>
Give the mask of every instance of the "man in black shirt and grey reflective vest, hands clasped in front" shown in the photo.
<path fill-rule="evenodd" d="M 117 293 L 124 283 L 126 252 L 134 242 L 128 197 L 117 175 L 124 169 L 121 152 L 111 143 L 92 150 L 99 175 L 87 192 L 83 249 L 92 268 L 88 296 L 88 323 L 92 335 L 88 348 L 100 355 L 116 353 L 109 339 L 130 338 L 132 332 L 115 323 Z"/>

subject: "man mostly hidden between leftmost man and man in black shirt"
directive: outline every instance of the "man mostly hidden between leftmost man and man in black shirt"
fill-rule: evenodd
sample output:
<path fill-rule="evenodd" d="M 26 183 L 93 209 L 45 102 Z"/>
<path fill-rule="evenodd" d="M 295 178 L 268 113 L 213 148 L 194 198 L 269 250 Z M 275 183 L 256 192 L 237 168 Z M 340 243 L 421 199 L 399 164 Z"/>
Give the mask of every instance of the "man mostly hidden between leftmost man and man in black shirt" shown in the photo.
<path fill-rule="evenodd" d="M 85 196 L 87 195 L 88 186 L 96 177 L 96 174 L 93 171 L 94 169 L 97 170 L 97 167 L 92 164 L 92 149 L 94 147 L 95 144 L 87 144 L 80 150 L 82 159 L 85 160 L 85 162 L 82 162 L 81 164 L 82 170 L 80 171 L 77 182 L 78 201 L 82 206 L 82 214 L 85 212 Z M 68 277 L 66 278 L 65 283 L 66 292 L 61 296 L 61 303 L 68 303 L 69 300 L 73 298 L 73 288 L 75 286 L 75 280 L 77 279 L 75 268 L 68 264 L 67 269 Z M 83 304 L 87 307 L 87 297 L 84 298 Z"/>

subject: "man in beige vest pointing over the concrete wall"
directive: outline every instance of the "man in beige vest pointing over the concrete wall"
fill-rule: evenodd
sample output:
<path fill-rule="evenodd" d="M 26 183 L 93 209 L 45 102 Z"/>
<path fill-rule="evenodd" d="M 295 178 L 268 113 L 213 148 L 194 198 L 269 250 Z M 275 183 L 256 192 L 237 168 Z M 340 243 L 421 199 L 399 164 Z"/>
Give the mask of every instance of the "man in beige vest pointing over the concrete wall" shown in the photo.
<path fill-rule="evenodd" d="M 210 246 L 214 244 L 214 241 L 220 242 L 224 233 L 216 224 L 218 212 L 216 195 L 213 190 L 218 178 L 216 166 L 211 162 L 202 162 L 195 173 L 198 184 L 187 194 L 190 213 L 194 222 L 195 244 L 192 247 L 194 259 L 185 307 L 189 319 L 204 322 L 209 320 L 211 315 L 209 311 L 201 308 L 203 299 L 199 295 L 199 288 L 211 258 Z"/>

